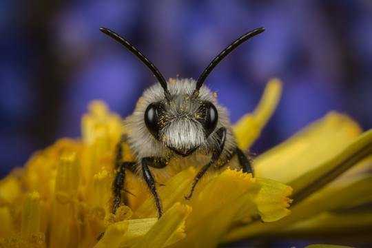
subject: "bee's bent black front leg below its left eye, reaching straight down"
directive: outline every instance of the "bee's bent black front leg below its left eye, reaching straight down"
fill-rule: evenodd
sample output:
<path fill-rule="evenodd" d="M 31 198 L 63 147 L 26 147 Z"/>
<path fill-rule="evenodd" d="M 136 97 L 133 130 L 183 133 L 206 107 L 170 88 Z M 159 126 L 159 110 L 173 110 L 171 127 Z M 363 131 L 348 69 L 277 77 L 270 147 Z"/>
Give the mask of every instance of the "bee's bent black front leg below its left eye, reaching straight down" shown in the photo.
<path fill-rule="evenodd" d="M 152 196 L 154 196 L 156 209 L 158 209 L 158 218 L 161 218 L 161 216 L 163 215 L 163 209 L 161 207 L 161 200 L 158 196 L 158 192 L 156 191 L 154 176 L 152 176 L 149 170 L 149 167 L 163 168 L 167 165 L 167 163 L 165 163 L 165 160 L 161 158 L 147 157 L 147 158 L 142 158 L 141 164 L 142 164 L 143 178 L 145 179 L 145 182 L 147 183 L 147 186 L 149 187 L 149 190 Z"/>

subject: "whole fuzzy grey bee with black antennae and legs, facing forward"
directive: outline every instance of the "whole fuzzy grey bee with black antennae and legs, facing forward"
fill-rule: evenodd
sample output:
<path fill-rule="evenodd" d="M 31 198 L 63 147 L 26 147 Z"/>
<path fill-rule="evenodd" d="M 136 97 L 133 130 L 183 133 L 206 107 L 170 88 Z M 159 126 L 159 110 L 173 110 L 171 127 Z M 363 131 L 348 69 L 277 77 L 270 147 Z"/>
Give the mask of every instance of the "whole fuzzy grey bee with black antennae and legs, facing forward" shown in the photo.
<path fill-rule="evenodd" d="M 157 83 L 149 87 L 136 104 L 132 115 L 124 120 L 126 134 L 123 134 L 116 148 L 116 176 L 112 183 L 112 212 L 121 205 L 127 169 L 143 176 L 154 197 L 158 217 L 163 214 L 158 196 L 154 173 L 172 166 L 172 160 L 179 165 L 196 165 L 200 168 L 190 187 L 186 199 L 192 197 L 200 178 L 211 169 L 223 167 L 236 157 L 243 172 L 252 172 L 249 158 L 236 145 L 227 110 L 218 104 L 216 96 L 203 85 L 210 72 L 231 51 L 251 37 L 265 31 L 256 28 L 227 46 L 209 63 L 198 80 L 169 79 L 129 41 L 110 29 L 101 32 L 124 45 L 151 70 Z M 123 162 L 123 143 L 130 146 L 136 161 Z"/>

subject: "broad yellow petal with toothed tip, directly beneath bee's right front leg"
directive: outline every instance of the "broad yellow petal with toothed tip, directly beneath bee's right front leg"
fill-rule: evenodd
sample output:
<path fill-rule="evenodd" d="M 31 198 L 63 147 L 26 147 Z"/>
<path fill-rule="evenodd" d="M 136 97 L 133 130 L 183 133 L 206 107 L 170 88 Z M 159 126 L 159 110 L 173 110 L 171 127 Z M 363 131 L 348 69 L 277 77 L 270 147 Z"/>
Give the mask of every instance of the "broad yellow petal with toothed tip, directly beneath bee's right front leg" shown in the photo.
<path fill-rule="evenodd" d="M 263 220 L 271 221 L 288 214 L 287 195 L 291 189 L 281 183 L 231 169 L 209 177 L 200 182 L 189 201 L 193 211 L 186 221 L 187 238 L 176 247 L 192 247 L 196 242 L 200 247 L 215 247 L 227 229 L 243 216 L 260 214 Z"/>

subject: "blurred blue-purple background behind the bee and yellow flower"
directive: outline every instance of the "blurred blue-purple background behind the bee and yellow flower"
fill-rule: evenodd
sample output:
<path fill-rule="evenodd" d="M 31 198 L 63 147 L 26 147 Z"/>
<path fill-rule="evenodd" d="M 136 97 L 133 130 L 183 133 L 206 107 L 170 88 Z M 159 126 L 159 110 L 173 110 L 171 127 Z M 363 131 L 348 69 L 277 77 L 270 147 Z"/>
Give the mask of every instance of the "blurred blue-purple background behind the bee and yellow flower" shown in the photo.
<path fill-rule="evenodd" d="M 285 82 L 260 153 L 329 110 L 372 126 L 371 1 L 0 1 L 0 176 L 32 151 L 79 136 L 92 99 L 127 116 L 154 78 L 99 32 L 123 34 L 166 78 L 192 77 L 240 34 L 242 45 L 207 79 L 234 122 L 267 81 Z"/>

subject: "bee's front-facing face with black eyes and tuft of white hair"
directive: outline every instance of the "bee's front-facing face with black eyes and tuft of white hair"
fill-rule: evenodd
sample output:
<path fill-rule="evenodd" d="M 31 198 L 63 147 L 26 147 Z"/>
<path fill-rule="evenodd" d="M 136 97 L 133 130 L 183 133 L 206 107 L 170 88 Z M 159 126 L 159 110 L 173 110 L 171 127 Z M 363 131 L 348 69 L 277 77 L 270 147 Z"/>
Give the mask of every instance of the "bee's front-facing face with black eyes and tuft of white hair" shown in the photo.
<path fill-rule="evenodd" d="M 144 118 L 147 129 L 158 141 L 177 154 L 188 156 L 215 130 L 218 111 L 209 101 L 180 94 L 170 101 L 150 103 Z"/>

